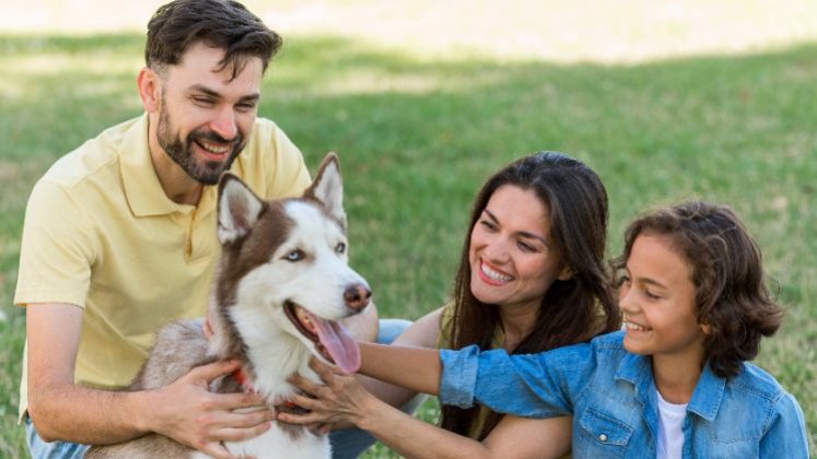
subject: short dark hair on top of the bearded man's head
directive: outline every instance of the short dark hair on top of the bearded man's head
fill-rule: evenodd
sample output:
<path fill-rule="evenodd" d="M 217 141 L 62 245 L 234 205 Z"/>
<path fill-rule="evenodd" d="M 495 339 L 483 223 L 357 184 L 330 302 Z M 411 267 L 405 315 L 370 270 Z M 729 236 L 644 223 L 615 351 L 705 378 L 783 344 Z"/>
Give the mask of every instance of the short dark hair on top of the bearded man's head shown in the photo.
<path fill-rule="evenodd" d="M 144 62 L 161 73 L 196 43 L 224 49 L 218 70 L 229 67 L 235 78 L 253 57 L 266 71 L 282 40 L 237 1 L 176 0 L 160 7 L 148 23 Z"/>

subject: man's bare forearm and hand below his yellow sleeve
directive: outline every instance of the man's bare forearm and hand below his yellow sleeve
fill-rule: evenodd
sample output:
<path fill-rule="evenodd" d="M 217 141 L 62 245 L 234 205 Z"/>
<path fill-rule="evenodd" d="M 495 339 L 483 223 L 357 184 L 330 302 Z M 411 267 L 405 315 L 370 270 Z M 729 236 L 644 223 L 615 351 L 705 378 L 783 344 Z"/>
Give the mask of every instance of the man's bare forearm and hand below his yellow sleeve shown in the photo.
<path fill-rule="evenodd" d="M 194 368 L 155 391 L 106 391 L 74 385 L 81 327 L 82 309 L 74 305 L 26 307 L 28 414 L 46 442 L 110 444 L 156 432 L 213 457 L 229 457 L 220 440 L 248 438 L 269 428 L 272 413 L 268 410 L 231 412 L 262 404 L 257 396 L 207 390 L 210 380 L 236 369 L 235 362 Z"/>

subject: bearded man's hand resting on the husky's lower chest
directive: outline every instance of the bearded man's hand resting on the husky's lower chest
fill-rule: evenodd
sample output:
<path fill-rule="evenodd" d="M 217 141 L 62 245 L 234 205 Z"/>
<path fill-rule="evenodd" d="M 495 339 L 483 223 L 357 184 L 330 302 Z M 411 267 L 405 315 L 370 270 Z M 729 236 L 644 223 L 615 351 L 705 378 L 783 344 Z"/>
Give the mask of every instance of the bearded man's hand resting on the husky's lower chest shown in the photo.
<path fill-rule="evenodd" d="M 270 428 L 275 412 L 252 392 L 213 393 L 210 381 L 235 372 L 237 361 L 214 362 L 192 368 L 170 386 L 156 390 L 154 415 L 148 429 L 171 437 L 214 458 L 233 458 L 222 442 L 253 438 Z M 238 409 L 255 408 L 250 412 Z"/>

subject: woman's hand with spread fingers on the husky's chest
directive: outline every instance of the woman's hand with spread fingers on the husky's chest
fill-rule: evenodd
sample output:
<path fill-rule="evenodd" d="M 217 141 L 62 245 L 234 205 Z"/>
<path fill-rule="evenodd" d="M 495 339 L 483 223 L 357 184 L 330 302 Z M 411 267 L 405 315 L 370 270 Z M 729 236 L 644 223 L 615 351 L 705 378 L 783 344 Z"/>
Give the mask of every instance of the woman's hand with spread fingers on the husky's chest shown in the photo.
<path fill-rule="evenodd" d="M 296 414 L 279 412 L 276 417 L 285 423 L 307 425 L 310 428 L 326 433 L 341 425 L 359 425 L 366 415 L 372 403 L 377 403 L 374 396 L 369 393 L 354 375 L 347 375 L 340 368 L 327 365 L 315 357 L 310 360 L 312 368 L 324 385 L 315 384 L 301 375 L 289 378 L 289 382 L 303 391 L 289 401 L 308 410 L 307 413 Z"/>

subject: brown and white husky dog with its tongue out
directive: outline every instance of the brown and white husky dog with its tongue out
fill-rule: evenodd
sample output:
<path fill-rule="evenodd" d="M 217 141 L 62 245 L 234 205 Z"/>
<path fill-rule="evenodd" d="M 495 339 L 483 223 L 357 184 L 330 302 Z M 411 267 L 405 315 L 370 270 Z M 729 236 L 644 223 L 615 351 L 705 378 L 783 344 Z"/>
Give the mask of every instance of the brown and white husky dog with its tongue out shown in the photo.
<path fill-rule="evenodd" d="M 148 362 L 130 390 L 164 387 L 194 366 L 237 358 L 240 372 L 215 379 L 214 392 L 252 390 L 272 404 L 294 388 L 295 372 L 318 381 L 307 366 L 315 355 L 347 373 L 360 366 L 354 341 L 337 320 L 361 311 L 372 292 L 348 266 L 340 166 L 334 153 L 301 198 L 262 201 L 236 176 L 219 181 L 218 237 L 221 259 L 208 314 L 160 330 Z M 328 458 L 329 440 L 301 426 L 272 423 L 258 437 L 226 443 L 236 456 Z M 150 434 L 131 442 L 94 446 L 87 458 L 203 457 L 167 437 Z"/>

